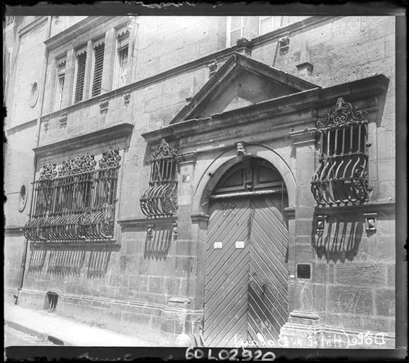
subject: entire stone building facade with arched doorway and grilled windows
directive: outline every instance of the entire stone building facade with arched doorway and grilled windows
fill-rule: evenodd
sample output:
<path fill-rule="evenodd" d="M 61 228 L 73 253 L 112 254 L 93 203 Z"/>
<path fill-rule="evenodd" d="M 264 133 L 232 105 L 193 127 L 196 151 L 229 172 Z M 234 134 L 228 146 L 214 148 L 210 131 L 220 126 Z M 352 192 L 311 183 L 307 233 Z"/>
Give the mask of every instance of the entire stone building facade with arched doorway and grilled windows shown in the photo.
<path fill-rule="evenodd" d="M 6 301 L 158 345 L 394 346 L 393 17 L 4 34 Z"/>

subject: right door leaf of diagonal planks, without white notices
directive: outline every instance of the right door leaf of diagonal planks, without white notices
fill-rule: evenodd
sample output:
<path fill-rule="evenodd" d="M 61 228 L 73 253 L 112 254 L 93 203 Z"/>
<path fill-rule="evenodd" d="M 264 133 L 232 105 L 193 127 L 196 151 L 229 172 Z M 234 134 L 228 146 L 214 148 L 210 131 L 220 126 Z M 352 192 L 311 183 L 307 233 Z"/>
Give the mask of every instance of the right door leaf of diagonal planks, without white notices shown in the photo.
<path fill-rule="evenodd" d="M 288 316 L 288 232 L 281 196 L 254 198 L 251 207 L 249 340 L 278 347 L 280 328 Z"/>

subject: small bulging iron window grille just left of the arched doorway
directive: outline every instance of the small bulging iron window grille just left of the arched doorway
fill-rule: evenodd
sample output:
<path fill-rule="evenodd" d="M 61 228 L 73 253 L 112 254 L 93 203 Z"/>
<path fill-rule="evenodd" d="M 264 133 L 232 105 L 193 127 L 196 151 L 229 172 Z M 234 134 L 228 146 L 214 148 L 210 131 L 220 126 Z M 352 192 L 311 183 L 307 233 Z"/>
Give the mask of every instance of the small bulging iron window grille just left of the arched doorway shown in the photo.
<path fill-rule="evenodd" d="M 147 217 L 172 216 L 177 211 L 176 152 L 164 139 L 152 152 L 149 189 L 140 199 L 140 208 Z"/>

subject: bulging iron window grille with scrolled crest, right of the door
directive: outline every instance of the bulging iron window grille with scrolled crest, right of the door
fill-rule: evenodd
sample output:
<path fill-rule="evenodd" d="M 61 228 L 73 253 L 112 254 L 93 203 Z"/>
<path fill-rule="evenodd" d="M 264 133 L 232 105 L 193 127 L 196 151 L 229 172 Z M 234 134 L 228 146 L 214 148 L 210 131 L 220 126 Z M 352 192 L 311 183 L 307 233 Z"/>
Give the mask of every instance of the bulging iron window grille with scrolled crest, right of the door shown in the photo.
<path fill-rule="evenodd" d="M 319 205 L 368 201 L 368 121 L 366 111 L 337 99 L 329 113 L 317 121 L 319 166 L 311 191 Z"/>

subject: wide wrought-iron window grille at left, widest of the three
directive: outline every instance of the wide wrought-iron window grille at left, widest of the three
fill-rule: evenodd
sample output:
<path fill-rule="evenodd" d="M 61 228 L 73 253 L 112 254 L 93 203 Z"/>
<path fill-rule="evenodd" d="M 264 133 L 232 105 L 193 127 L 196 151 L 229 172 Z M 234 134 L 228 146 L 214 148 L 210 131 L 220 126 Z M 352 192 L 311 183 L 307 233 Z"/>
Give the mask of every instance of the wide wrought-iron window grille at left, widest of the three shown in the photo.
<path fill-rule="evenodd" d="M 113 237 L 121 156 L 110 149 L 96 169 L 93 155 L 48 164 L 34 182 L 31 218 L 24 235 L 35 242 L 106 240 Z"/>

